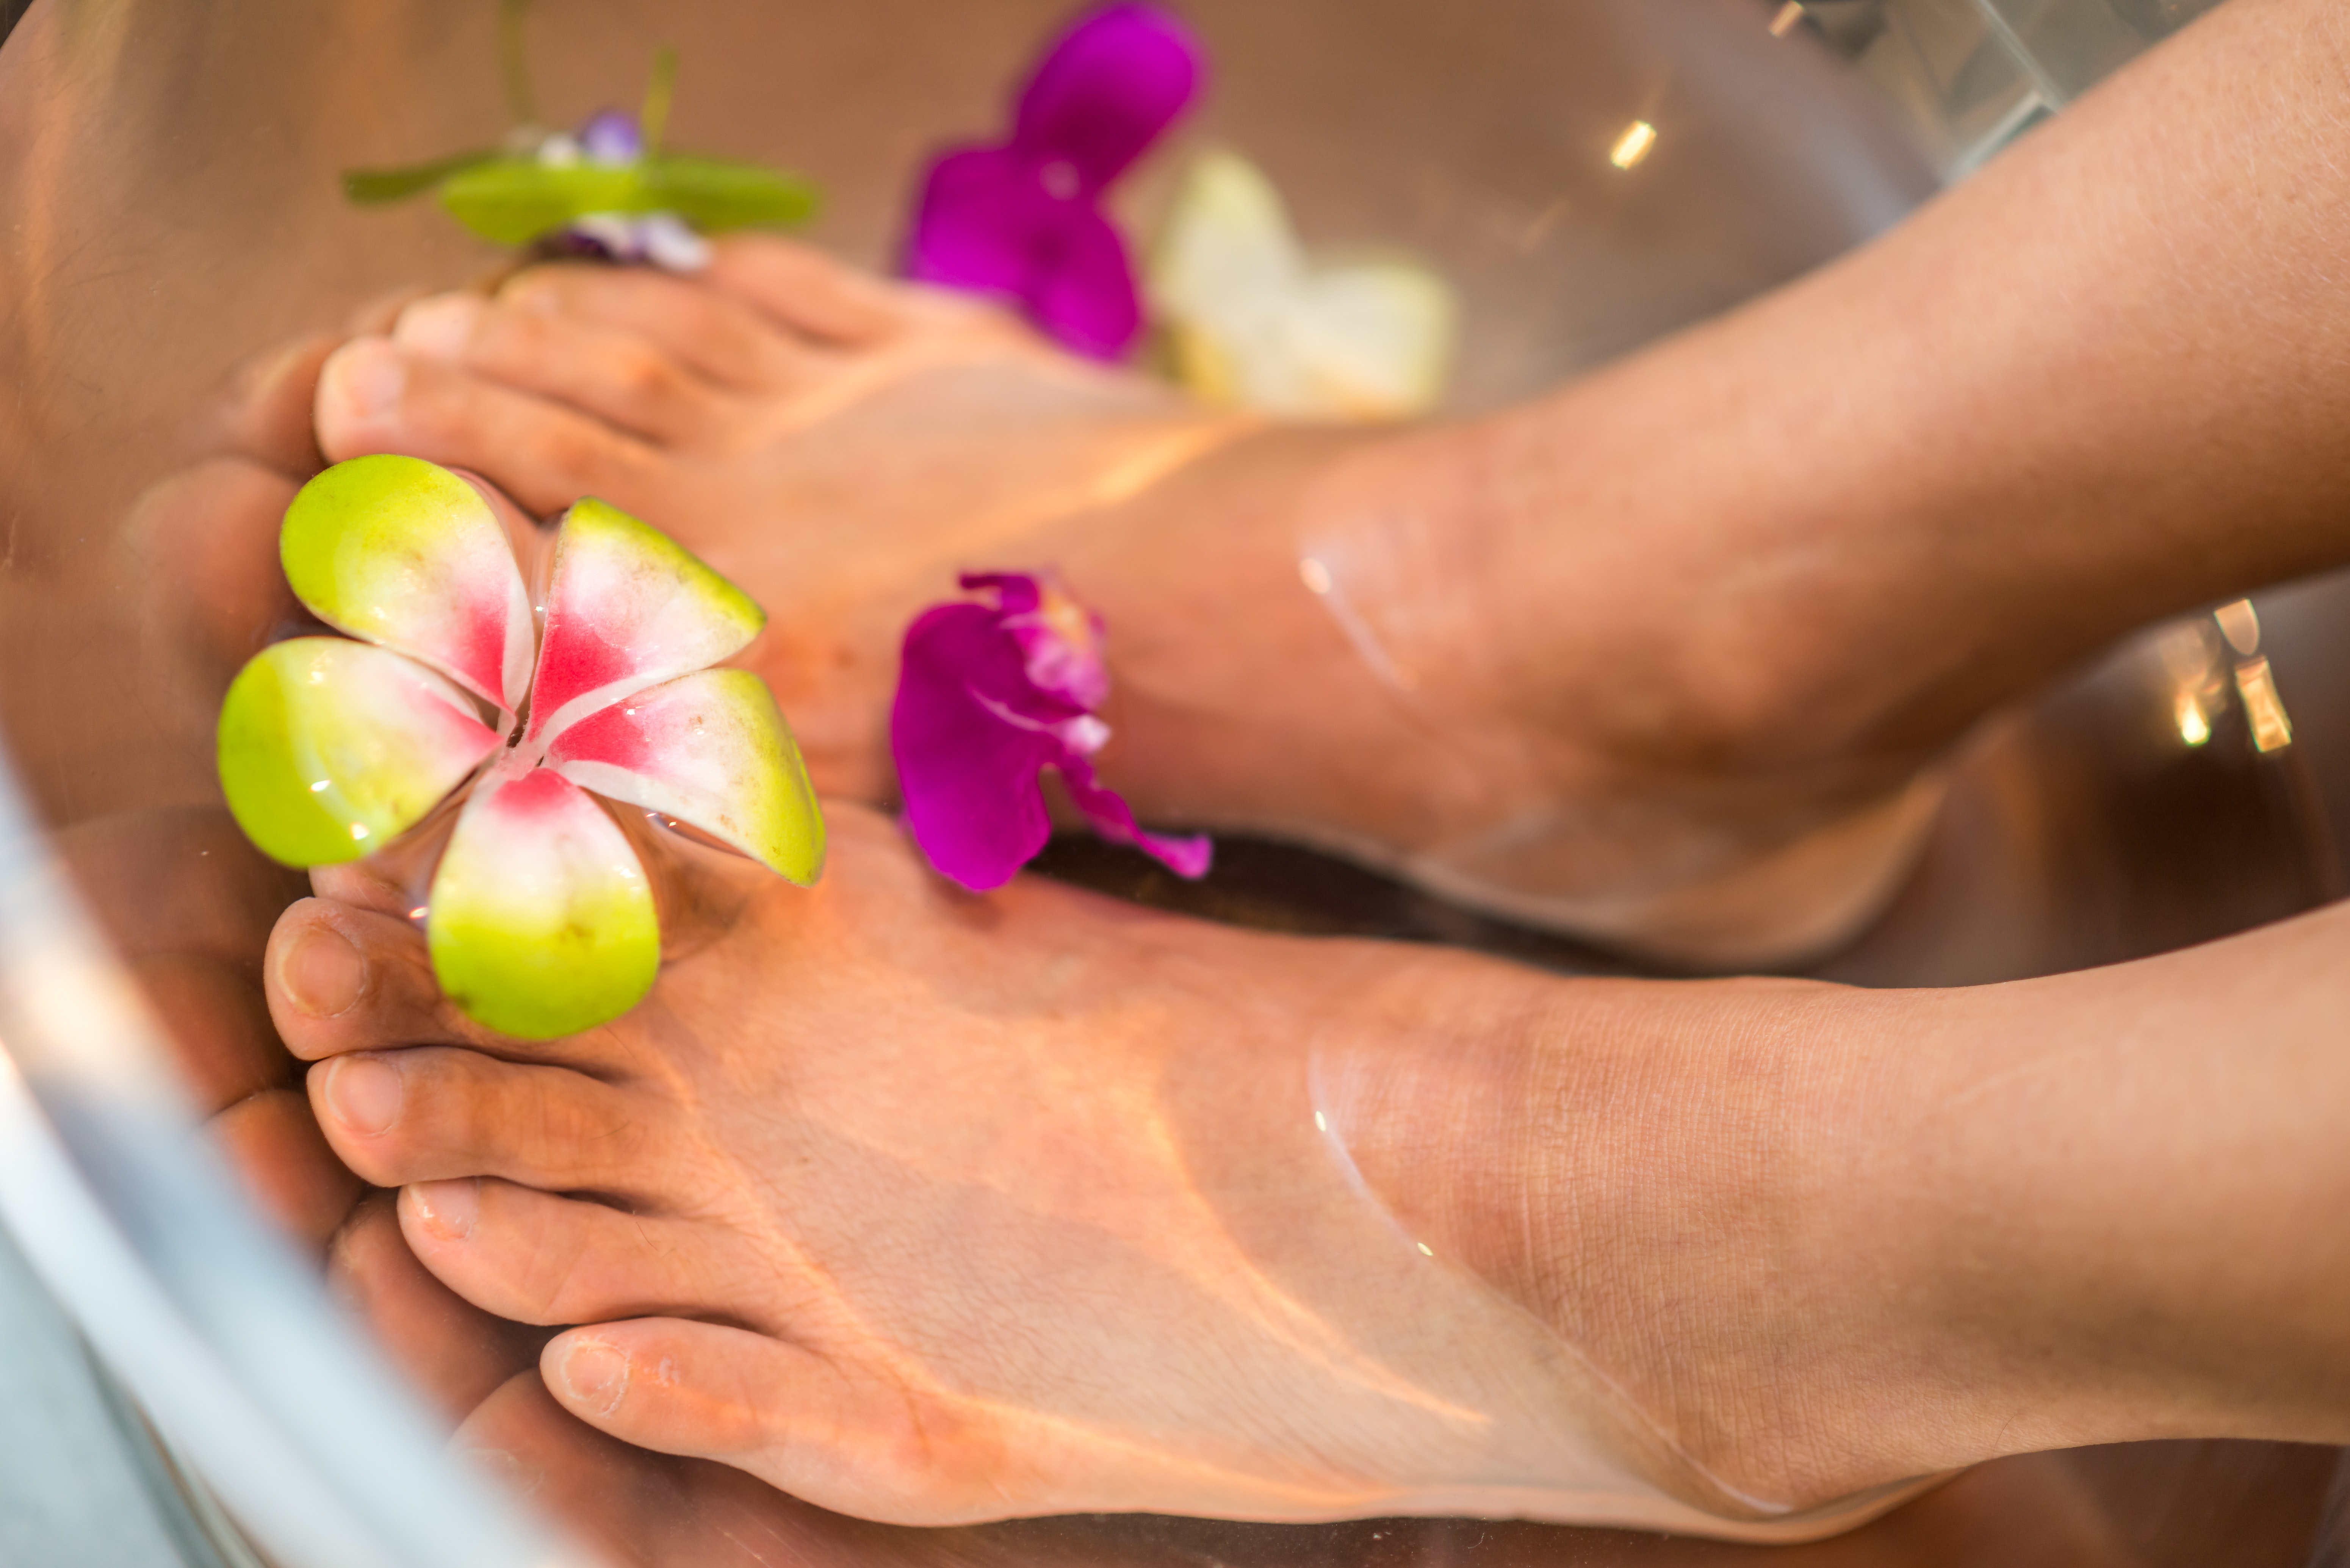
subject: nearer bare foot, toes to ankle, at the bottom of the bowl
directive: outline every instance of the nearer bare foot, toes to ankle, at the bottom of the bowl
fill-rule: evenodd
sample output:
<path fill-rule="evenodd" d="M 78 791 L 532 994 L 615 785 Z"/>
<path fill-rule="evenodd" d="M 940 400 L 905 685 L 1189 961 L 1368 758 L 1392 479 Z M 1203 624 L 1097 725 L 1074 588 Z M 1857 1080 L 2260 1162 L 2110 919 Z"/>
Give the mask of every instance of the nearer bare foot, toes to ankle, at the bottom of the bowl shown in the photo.
<path fill-rule="evenodd" d="M 355 867 L 273 938 L 336 1154 L 402 1190 L 468 1302 L 566 1326 L 540 1371 L 588 1425 L 895 1523 L 1788 1537 L 1995 1450 L 2005 1410 L 1906 1420 L 1892 1293 L 1831 1262 L 1812 1154 L 1845 1145 L 1779 1105 L 1765 1154 L 1680 1081 L 1784 1086 L 1842 992 L 1586 987 L 1027 879 L 975 900 L 832 820 L 815 891 L 750 884 L 637 1013 L 564 1041 L 442 1004 Z M 1528 1119 L 1495 1041 L 1535 1039 Z M 1614 1131 L 1560 1164 L 1553 1117 Z"/>

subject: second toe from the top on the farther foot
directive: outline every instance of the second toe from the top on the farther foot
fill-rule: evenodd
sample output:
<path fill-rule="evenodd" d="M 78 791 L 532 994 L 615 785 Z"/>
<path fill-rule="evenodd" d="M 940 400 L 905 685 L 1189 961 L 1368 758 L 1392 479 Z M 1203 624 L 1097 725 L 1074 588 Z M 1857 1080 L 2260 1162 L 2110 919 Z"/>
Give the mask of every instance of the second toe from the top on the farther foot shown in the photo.
<path fill-rule="evenodd" d="M 637 336 L 714 386 L 794 393 L 830 360 L 731 294 L 644 268 L 545 266 L 517 273 L 498 303 Z"/>

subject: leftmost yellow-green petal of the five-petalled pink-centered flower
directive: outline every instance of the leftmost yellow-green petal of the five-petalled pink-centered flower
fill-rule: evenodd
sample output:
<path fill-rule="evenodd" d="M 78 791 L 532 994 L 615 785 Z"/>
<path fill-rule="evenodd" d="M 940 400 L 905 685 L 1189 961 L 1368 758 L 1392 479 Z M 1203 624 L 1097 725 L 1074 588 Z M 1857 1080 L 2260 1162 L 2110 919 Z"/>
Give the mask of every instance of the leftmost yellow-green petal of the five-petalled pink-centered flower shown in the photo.
<path fill-rule="evenodd" d="M 383 849 L 496 750 L 498 736 L 456 686 L 343 637 L 263 649 L 221 703 L 228 811 L 287 865 Z"/>

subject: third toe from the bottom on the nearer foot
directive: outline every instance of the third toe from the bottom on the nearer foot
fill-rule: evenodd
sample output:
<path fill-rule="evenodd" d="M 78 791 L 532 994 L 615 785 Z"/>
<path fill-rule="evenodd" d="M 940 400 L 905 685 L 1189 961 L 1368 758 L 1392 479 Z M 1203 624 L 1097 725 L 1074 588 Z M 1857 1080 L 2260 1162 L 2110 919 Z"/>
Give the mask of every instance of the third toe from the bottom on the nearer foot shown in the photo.
<path fill-rule="evenodd" d="M 310 1105 L 334 1152 L 378 1187 L 498 1175 L 651 1199 L 644 1173 L 663 1168 L 651 1095 L 479 1051 L 336 1056 L 310 1070 Z"/>

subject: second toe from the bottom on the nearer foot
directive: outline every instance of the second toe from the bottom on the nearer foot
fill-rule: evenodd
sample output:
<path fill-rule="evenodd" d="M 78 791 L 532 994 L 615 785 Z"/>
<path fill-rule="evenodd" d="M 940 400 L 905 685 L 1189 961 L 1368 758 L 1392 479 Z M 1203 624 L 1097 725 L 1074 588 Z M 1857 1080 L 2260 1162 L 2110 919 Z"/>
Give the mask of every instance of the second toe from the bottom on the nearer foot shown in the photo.
<path fill-rule="evenodd" d="M 400 1192 L 400 1234 L 432 1274 L 517 1324 L 595 1324 L 740 1305 L 719 1232 L 491 1175 Z"/>

